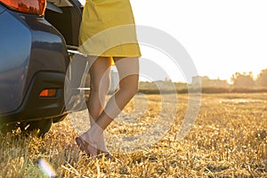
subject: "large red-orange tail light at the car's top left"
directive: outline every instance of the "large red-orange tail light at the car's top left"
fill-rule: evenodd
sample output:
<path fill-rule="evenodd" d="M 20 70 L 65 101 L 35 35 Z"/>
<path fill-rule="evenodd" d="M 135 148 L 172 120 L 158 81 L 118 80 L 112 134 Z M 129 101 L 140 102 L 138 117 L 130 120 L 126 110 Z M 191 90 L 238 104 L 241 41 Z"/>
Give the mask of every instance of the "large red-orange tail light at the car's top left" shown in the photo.
<path fill-rule="evenodd" d="M 18 12 L 44 15 L 46 0 L 0 0 Z"/>

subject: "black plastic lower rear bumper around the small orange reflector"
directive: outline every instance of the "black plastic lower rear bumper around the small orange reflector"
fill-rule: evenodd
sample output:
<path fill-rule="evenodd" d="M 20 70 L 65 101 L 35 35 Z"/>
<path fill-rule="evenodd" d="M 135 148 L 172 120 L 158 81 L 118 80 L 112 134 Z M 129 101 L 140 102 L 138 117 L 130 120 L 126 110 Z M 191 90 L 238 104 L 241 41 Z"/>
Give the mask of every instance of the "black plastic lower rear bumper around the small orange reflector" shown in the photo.
<path fill-rule="evenodd" d="M 45 118 L 55 118 L 67 115 L 64 104 L 65 74 L 51 71 L 36 73 L 31 80 L 28 92 L 25 95 L 19 109 L 0 114 L 0 124 L 12 124 L 16 122 L 33 121 Z M 54 97 L 39 97 L 44 89 L 56 88 Z"/>

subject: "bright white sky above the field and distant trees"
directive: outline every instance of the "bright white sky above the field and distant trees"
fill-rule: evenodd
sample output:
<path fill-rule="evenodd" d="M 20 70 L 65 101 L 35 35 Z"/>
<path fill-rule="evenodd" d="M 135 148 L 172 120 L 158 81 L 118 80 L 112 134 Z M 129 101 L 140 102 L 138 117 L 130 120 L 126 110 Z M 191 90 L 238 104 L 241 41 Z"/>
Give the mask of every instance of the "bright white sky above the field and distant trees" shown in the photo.
<path fill-rule="evenodd" d="M 136 25 L 173 36 L 190 54 L 199 76 L 231 81 L 235 72 L 252 71 L 256 77 L 267 69 L 266 0 L 131 0 L 131 4 Z M 163 66 L 173 81 L 184 81 L 188 69 L 174 69 L 169 57 L 156 48 L 141 44 L 141 51 L 143 58 Z M 156 73 L 157 79 L 165 77 Z"/>

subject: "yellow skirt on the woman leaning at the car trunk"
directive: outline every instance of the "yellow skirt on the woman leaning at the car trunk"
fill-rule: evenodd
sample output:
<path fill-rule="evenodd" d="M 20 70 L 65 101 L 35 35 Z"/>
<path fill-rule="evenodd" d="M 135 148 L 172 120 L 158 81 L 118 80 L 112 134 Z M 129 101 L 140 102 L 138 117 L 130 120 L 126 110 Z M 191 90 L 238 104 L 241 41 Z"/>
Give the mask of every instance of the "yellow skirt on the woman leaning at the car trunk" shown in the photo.
<path fill-rule="evenodd" d="M 86 0 L 79 51 L 103 57 L 140 57 L 129 0 Z"/>

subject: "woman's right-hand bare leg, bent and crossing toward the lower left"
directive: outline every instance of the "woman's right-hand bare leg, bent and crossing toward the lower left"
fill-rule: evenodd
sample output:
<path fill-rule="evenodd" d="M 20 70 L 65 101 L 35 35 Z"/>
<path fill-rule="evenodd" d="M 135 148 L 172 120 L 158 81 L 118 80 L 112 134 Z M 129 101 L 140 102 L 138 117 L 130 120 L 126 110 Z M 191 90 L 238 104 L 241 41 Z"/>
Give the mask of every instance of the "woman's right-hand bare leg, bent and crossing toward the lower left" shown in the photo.
<path fill-rule="evenodd" d="M 96 119 L 93 125 L 81 137 L 98 149 L 101 148 L 100 140 L 103 130 L 113 121 L 115 117 L 124 109 L 125 105 L 134 97 L 138 90 L 139 79 L 139 59 L 132 58 L 114 58 L 115 65 L 119 74 L 119 89 L 108 101 L 101 115 Z"/>

